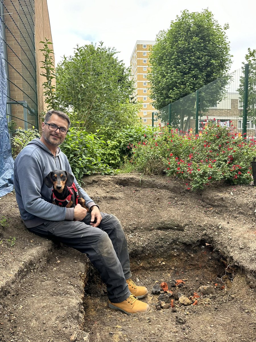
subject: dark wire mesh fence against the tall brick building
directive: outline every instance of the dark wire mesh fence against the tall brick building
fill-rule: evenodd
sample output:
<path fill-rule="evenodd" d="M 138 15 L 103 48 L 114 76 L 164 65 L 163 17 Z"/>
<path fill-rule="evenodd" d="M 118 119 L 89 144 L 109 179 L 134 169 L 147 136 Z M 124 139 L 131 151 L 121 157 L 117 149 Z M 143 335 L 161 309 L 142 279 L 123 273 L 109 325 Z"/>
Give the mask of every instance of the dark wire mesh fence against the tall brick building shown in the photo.
<path fill-rule="evenodd" d="M 7 77 L 10 139 L 18 129 L 38 129 L 33 0 L 0 0 Z"/>

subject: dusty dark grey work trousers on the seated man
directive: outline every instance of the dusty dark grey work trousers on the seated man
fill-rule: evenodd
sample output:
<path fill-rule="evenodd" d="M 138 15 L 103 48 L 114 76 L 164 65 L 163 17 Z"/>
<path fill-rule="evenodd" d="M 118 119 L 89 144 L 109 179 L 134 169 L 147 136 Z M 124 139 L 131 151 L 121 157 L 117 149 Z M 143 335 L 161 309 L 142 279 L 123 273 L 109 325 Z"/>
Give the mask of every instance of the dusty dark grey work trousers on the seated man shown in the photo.
<path fill-rule="evenodd" d="M 98 227 L 90 226 L 87 213 L 83 221 L 45 221 L 29 231 L 86 253 L 106 284 L 109 300 L 119 303 L 131 294 L 126 283 L 131 277 L 127 241 L 116 216 L 101 216 Z"/>

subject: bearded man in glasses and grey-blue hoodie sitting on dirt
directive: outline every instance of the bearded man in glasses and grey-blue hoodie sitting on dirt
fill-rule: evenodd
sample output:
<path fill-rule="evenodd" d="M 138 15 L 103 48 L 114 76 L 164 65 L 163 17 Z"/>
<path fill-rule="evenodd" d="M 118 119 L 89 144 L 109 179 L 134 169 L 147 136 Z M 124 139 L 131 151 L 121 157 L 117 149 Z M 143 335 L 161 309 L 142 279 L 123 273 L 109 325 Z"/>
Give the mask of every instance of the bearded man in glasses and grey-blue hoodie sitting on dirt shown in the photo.
<path fill-rule="evenodd" d="M 69 117 L 58 110 L 46 113 L 42 136 L 33 139 L 16 157 L 14 186 L 22 219 L 28 230 L 86 253 L 98 269 L 108 291 L 108 306 L 126 314 L 144 312 L 149 306 L 138 300 L 148 291 L 130 279 L 130 260 L 123 228 L 114 215 L 102 213 L 74 180 L 89 212 L 80 204 L 58 207 L 51 202 L 52 189 L 44 178 L 56 169 L 72 173 L 59 145 L 70 127 Z"/>

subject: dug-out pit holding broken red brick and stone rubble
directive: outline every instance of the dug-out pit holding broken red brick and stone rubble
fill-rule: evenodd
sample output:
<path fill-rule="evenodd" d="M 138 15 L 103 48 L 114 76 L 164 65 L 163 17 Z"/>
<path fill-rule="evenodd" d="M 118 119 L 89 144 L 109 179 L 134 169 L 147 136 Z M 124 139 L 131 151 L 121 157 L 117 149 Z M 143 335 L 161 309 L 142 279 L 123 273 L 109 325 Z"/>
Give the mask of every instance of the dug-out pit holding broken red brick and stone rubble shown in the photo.
<path fill-rule="evenodd" d="M 90 341 L 255 341 L 255 290 L 211 245 L 133 257 L 131 269 L 136 284 L 149 290 L 142 300 L 150 311 L 126 315 L 109 309 L 105 286 L 92 271 L 84 298 Z"/>

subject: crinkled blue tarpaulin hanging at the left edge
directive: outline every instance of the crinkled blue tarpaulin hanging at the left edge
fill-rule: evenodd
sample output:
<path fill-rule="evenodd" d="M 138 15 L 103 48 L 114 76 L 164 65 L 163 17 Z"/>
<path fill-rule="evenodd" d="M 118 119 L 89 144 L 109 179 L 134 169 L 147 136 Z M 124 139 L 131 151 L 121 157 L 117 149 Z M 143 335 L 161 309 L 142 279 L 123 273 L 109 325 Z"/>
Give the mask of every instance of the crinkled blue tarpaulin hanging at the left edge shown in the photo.
<path fill-rule="evenodd" d="M 13 157 L 6 120 L 7 81 L 0 18 L 0 197 L 13 190 Z"/>

